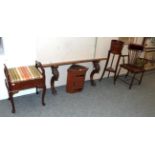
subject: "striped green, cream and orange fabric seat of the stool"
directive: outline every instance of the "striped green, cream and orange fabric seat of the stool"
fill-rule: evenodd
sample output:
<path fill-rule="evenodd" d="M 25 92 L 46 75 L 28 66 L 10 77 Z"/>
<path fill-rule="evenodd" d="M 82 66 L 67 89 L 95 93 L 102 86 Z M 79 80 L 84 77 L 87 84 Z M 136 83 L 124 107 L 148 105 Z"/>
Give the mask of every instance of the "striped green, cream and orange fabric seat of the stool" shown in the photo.
<path fill-rule="evenodd" d="M 8 69 L 11 83 L 41 79 L 43 76 L 35 66 L 24 66 Z"/>

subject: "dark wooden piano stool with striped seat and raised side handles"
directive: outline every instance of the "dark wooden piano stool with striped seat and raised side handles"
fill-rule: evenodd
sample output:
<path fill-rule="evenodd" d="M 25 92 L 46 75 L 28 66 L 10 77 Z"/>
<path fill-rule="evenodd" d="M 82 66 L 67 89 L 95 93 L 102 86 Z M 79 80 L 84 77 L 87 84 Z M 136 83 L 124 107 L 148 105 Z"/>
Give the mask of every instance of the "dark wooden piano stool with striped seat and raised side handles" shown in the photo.
<path fill-rule="evenodd" d="M 42 88 L 42 105 L 45 105 L 45 71 L 40 62 L 36 61 L 35 66 L 17 68 L 7 68 L 6 65 L 4 65 L 4 73 L 6 76 L 5 83 L 8 90 L 9 100 L 12 105 L 12 113 L 16 112 L 13 95 L 24 89 L 36 88 L 36 93 L 38 93 L 38 88 Z"/>

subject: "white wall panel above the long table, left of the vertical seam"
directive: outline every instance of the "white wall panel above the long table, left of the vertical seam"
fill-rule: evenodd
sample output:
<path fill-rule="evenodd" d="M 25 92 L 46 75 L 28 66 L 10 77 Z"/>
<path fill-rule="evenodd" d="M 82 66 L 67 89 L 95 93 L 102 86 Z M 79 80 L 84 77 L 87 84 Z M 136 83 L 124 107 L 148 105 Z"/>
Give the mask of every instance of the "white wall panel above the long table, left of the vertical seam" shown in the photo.
<path fill-rule="evenodd" d="M 91 59 L 94 37 L 37 37 L 37 59 L 42 63 Z"/>

